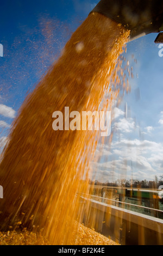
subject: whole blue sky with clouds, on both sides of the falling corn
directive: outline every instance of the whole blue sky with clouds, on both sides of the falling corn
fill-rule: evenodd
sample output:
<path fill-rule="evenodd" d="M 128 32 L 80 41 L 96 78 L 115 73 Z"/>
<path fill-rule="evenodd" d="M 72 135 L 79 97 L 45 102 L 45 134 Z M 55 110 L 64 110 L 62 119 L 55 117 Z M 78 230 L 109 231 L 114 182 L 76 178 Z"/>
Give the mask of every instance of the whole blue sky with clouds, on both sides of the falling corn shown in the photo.
<path fill-rule="evenodd" d="M 1 1 L 0 143 L 3 148 L 11 122 L 27 93 L 58 58 L 73 31 L 95 6 L 95 0 Z M 157 34 L 127 44 L 126 59 L 133 66 L 131 93 L 115 108 L 111 150 L 105 144 L 99 163 L 93 163 L 102 181 L 131 176 L 154 179 L 163 174 L 163 57 Z M 132 56 L 137 60 L 134 62 Z M 128 109 L 128 115 L 124 109 Z M 130 113 L 130 115 L 129 115 Z"/>

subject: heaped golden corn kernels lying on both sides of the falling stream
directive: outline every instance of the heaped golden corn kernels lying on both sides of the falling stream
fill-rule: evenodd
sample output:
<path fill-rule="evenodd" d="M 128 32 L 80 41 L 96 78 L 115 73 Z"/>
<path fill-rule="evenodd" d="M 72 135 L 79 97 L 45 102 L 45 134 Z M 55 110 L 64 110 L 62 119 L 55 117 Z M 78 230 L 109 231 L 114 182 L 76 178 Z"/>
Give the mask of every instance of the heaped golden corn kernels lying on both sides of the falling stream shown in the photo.
<path fill-rule="evenodd" d="M 118 243 L 96 231 L 86 228 L 83 224 L 79 225 L 76 236 L 76 245 L 118 245 Z M 74 245 L 73 242 L 71 242 L 71 245 Z M 36 234 L 24 228 L 20 232 L 0 232 L 0 245 L 50 245 L 50 243 L 40 233 Z"/>

